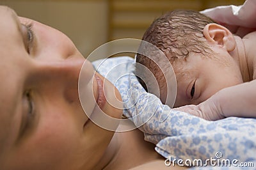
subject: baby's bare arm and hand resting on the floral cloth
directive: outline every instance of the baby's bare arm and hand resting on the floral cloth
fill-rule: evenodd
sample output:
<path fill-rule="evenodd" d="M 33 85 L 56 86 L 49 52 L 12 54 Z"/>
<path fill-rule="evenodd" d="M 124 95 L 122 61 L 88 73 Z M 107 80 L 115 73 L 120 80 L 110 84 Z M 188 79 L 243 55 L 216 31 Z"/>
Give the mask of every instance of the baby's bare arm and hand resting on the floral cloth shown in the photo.
<path fill-rule="evenodd" d="M 220 120 L 230 116 L 255 118 L 256 80 L 221 89 L 201 104 L 186 105 L 176 109 L 205 120 Z"/>

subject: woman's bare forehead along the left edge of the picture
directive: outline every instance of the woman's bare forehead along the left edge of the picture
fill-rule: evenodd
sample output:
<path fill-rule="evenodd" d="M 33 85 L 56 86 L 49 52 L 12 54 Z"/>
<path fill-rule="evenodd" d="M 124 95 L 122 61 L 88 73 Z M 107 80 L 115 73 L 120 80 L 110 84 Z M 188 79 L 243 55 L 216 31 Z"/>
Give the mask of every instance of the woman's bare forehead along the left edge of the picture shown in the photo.
<path fill-rule="evenodd" d="M 0 6 L 0 157 L 2 146 L 13 135 L 13 118 L 16 115 L 23 72 L 22 36 L 19 20 L 11 8 Z M 18 47 L 18 48 L 17 48 Z M 24 50 L 23 50 L 24 51 Z M 19 59 L 20 58 L 20 59 Z"/>

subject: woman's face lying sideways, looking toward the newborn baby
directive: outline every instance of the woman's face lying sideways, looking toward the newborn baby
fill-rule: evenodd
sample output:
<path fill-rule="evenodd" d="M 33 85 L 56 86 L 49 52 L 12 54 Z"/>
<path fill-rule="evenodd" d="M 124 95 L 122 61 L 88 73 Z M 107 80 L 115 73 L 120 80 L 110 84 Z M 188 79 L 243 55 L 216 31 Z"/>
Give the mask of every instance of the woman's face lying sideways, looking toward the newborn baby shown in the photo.
<path fill-rule="evenodd" d="M 92 169 L 113 132 L 86 114 L 95 114 L 97 105 L 109 116 L 122 114 L 99 99 L 104 78 L 95 75 L 91 63 L 60 31 L 19 18 L 4 6 L 0 22 L 1 169 Z M 83 63 L 79 88 L 88 95 L 86 114 L 77 90 Z M 109 82 L 104 86 L 113 87 Z M 108 93 L 108 98 L 116 102 L 115 94 Z"/>

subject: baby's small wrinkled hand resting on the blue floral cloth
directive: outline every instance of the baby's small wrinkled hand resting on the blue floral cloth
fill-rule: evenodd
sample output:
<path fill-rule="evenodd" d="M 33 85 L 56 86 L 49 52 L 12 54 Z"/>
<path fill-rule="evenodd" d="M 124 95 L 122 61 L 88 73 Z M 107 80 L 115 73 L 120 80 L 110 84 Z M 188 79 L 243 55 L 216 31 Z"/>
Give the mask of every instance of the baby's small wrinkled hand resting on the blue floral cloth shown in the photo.
<path fill-rule="evenodd" d="M 205 120 L 220 120 L 225 118 L 225 116 L 221 115 L 221 109 L 219 109 L 216 102 L 212 101 L 212 98 L 205 100 L 198 105 L 184 105 L 182 107 L 177 107 L 175 110 L 188 112 L 189 114 L 193 114 L 194 116 L 198 116 Z"/>

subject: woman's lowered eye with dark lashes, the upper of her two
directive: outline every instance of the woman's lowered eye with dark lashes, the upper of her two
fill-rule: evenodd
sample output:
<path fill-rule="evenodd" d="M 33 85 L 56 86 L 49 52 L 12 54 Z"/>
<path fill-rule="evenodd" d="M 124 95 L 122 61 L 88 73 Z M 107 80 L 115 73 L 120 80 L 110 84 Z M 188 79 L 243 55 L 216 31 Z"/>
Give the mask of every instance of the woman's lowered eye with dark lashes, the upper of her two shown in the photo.
<path fill-rule="evenodd" d="M 34 41 L 34 33 L 32 29 L 33 25 L 30 24 L 22 24 L 22 30 L 24 30 L 23 40 L 25 48 L 28 52 L 28 54 L 31 53 L 32 47 L 33 47 L 33 41 Z"/>

